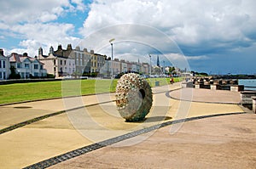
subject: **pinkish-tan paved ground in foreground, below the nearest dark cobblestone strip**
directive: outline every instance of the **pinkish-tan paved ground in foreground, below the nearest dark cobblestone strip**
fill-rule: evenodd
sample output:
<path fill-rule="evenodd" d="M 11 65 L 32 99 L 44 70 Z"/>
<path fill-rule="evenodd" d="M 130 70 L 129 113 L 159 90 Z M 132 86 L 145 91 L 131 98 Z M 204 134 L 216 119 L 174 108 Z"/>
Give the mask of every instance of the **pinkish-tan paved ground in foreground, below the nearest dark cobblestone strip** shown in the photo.
<path fill-rule="evenodd" d="M 173 134 L 164 127 L 139 144 L 108 146 L 50 168 L 255 168 L 255 143 L 256 115 L 227 115 L 188 121 Z"/>

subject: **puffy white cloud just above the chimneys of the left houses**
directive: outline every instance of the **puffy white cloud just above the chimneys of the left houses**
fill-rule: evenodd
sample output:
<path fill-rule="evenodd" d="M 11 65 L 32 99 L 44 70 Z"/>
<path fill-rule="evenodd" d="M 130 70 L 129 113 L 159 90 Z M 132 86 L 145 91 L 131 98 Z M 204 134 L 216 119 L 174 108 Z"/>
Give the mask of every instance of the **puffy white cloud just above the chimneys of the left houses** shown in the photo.
<path fill-rule="evenodd" d="M 79 38 L 69 35 L 73 29 L 72 24 L 57 23 L 12 26 L 10 30 L 19 33 L 25 40 L 22 40 L 19 44 L 23 48 L 14 48 L 7 51 L 7 53 L 26 51 L 26 53 L 34 56 L 38 55 L 39 47 L 44 48 L 44 54 L 48 54 L 50 46 L 56 48 L 58 44 L 63 44 L 63 48 L 66 48 L 68 43 L 76 45 L 79 42 Z"/>

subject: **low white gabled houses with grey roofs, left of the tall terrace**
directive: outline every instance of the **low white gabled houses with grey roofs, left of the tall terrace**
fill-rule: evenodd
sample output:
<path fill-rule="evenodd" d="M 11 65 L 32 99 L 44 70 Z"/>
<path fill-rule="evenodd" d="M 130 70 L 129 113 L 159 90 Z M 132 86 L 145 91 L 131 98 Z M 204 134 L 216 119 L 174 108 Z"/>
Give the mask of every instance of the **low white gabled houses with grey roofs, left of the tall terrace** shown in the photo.
<path fill-rule="evenodd" d="M 16 73 L 20 74 L 21 78 L 45 77 L 47 71 L 44 69 L 44 63 L 37 58 L 32 58 L 26 53 L 9 55 L 10 66 L 14 66 Z"/>

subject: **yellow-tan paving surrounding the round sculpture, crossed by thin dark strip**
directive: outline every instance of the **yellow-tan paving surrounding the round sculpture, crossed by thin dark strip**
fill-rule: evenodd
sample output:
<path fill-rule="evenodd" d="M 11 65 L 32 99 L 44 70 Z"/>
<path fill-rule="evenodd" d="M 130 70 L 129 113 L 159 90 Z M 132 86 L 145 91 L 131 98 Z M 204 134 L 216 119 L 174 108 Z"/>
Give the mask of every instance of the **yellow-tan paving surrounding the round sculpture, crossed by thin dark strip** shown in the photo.
<path fill-rule="evenodd" d="M 113 94 L 55 99 L 0 107 L 1 128 L 55 111 L 91 105 L 55 115 L 0 135 L 0 166 L 20 168 L 67 151 L 113 138 L 127 132 L 198 115 L 241 112 L 238 105 L 190 103 L 168 98 L 179 84 L 154 87 L 154 106 L 146 121 L 127 123 L 119 117 Z M 104 103 L 104 104 L 97 104 Z M 172 127 L 177 132 L 182 126 Z M 132 146 L 131 146 L 132 147 Z"/>

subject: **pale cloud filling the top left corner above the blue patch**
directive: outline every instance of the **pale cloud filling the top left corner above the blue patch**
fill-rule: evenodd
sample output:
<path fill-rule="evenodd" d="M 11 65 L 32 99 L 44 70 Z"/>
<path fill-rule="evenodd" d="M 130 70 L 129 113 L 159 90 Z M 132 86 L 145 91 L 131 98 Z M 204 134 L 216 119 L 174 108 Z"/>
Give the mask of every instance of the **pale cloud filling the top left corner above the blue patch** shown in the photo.
<path fill-rule="evenodd" d="M 62 14 L 82 10 L 86 6 L 81 0 L 10 0 L 1 1 L 0 15 L 3 23 L 15 25 L 18 23 L 49 22 L 56 20 Z"/>

